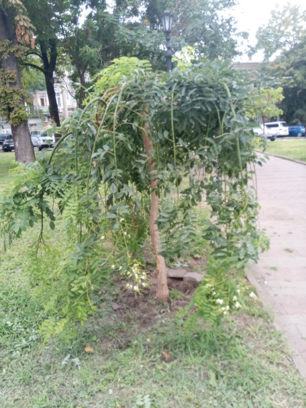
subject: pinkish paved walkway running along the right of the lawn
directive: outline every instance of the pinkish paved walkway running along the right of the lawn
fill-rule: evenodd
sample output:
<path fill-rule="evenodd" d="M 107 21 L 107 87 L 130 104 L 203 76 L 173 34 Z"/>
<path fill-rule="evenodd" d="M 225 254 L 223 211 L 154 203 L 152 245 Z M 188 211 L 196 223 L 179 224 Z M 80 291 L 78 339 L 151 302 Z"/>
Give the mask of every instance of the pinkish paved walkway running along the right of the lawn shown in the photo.
<path fill-rule="evenodd" d="M 270 249 L 248 278 L 306 376 L 306 165 L 270 156 L 256 174 L 260 228 Z"/>

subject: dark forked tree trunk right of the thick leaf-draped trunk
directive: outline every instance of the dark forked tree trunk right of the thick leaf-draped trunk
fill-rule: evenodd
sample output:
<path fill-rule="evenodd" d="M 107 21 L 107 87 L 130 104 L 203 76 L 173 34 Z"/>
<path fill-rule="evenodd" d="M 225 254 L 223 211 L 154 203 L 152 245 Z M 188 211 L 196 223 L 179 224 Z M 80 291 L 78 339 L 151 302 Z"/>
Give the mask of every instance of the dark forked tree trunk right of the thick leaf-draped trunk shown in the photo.
<path fill-rule="evenodd" d="M 49 101 L 49 112 L 52 123 L 57 126 L 61 125 L 59 108 L 56 100 L 56 93 L 54 90 L 54 70 L 57 60 L 57 41 L 56 39 L 49 39 L 48 45 L 50 47 L 50 58 L 48 58 L 47 47 L 44 41 L 39 42 L 41 58 L 43 62 L 43 73 L 46 82 L 47 95 Z"/>

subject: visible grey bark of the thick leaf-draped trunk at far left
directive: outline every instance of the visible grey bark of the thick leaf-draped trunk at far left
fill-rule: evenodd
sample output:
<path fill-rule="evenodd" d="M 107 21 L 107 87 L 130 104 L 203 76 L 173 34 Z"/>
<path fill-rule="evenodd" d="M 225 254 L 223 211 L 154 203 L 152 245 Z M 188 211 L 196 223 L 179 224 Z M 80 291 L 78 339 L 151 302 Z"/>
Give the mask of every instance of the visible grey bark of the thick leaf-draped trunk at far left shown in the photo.
<path fill-rule="evenodd" d="M 14 13 L 12 8 L 7 8 L 5 11 L 0 9 L 0 41 L 10 40 L 12 45 L 17 44 L 17 37 L 14 30 Z M 9 53 L 7 58 L 2 58 L 0 61 L 4 71 L 13 71 L 16 74 L 16 81 L 10 86 L 21 88 L 20 71 L 18 61 L 14 53 Z M 24 107 L 24 100 L 20 99 L 20 106 Z M 8 117 L 13 113 L 14 107 L 8 108 Z M 30 163 L 35 161 L 34 147 L 31 141 L 28 121 L 23 120 L 21 123 L 11 126 L 15 159 L 17 162 Z"/>

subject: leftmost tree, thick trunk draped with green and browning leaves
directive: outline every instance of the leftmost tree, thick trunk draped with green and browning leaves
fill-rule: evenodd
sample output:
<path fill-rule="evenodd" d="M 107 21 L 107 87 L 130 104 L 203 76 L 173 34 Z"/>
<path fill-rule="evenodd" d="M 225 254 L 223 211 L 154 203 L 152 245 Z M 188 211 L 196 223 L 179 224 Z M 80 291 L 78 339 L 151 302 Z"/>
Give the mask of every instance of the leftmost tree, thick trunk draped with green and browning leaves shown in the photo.
<path fill-rule="evenodd" d="M 0 0 L 0 114 L 11 125 L 16 161 L 23 163 L 34 161 L 35 155 L 18 61 L 24 49 L 18 42 L 30 43 L 32 28 L 21 3 Z"/>

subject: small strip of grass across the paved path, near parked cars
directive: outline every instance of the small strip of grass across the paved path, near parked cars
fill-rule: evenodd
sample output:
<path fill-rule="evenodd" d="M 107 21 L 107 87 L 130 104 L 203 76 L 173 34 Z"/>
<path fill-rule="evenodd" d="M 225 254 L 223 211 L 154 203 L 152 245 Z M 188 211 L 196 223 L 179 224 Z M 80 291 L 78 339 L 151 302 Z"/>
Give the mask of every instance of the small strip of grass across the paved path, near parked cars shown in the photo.
<path fill-rule="evenodd" d="M 276 139 L 267 142 L 266 153 L 306 162 L 306 139 Z"/>

